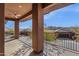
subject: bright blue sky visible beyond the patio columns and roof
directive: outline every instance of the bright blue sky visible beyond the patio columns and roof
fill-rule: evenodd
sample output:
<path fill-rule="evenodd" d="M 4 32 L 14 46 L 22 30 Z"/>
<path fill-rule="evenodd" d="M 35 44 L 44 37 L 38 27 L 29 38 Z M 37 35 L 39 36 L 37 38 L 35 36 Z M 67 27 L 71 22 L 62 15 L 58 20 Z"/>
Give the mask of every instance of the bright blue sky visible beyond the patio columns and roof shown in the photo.
<path fill-rule="evenodd" d="M 70 27 L 79 26 L 79 3 L 52 11 L 44 15 L 44 24 L 46 26 Z M 20 22 L 20 28 L 32 26 L 32 20 Z M 14 22 L 8 21 L 6 27 L 14 27 Z"/>

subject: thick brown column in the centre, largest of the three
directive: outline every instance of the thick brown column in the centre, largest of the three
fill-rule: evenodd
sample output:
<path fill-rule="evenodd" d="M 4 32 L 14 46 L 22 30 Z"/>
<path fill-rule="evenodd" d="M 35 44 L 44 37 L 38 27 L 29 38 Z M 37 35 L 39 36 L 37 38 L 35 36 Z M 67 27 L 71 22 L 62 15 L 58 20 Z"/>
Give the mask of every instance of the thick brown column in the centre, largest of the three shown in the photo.
<path fill-rule="evenodd" d="M 32 4 L 32 47 L 34 52 L 43 51 L 44 28 L 41 4 Z"/>

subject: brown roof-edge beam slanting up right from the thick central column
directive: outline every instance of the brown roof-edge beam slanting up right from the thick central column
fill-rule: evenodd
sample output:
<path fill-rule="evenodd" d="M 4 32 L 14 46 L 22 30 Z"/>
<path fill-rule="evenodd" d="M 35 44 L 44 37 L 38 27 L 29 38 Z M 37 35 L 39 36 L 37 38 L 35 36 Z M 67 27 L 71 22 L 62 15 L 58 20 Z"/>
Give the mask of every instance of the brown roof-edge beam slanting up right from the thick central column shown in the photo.
<path fill-rule="evenodd" d="M 73 4 L 73 3 L 54 3 L 54 4 L 50 4 L 49 6 L 44 8 L 44 14 L 47 14 L 51 11 L 66 7 L 66 6 L 71 5 L 71 4 Z"/>

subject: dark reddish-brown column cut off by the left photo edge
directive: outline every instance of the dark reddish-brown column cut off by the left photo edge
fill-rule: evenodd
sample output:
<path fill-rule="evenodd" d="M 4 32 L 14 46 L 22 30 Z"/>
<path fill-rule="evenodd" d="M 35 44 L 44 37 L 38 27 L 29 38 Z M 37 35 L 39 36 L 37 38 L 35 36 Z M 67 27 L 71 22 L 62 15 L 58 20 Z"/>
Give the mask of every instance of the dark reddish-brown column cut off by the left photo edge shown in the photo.
<path fill-rule="evenodd" d="M 0 56 L 4 55 L 4 4 L 0 3 Z"/>

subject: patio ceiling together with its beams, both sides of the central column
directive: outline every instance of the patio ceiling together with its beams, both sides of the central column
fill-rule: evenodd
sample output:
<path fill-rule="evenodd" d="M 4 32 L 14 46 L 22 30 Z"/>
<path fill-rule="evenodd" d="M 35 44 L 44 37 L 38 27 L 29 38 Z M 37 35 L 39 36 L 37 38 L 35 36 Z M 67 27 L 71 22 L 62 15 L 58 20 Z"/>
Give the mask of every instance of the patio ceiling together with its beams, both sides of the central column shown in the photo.
<path fill-rule="evenodd" d="M 71 5 L 71 3 L 43 3 L 43 14 Z M 32 18 L 32 3 L 6 3 L 6 20 L 28 20 Z"/>

